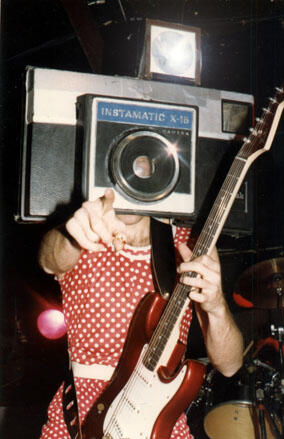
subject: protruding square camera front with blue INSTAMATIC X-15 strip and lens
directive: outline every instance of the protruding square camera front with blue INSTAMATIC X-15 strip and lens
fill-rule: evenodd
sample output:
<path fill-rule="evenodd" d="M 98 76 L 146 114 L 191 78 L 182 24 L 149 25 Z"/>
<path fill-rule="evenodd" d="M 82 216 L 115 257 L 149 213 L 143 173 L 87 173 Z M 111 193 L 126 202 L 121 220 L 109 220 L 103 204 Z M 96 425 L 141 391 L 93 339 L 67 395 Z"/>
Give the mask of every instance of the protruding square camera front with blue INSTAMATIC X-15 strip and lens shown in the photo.
<path fill-rule="evenodd" d="M 194 212 L 196 108 L 87 94 L 77 100 L 77 117 L 85 199 L 113 188 L 119 213 Z"/>

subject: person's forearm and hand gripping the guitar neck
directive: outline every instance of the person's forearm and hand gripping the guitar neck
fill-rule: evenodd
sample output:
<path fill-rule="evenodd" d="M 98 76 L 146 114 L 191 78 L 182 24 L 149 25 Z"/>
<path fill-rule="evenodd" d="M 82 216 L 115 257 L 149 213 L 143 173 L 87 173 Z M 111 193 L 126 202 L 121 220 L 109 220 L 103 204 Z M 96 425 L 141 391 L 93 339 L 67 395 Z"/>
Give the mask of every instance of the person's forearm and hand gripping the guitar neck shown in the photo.
<path fill-rule="evenodd" d="M 194 287 L 190 299 L 195 302 L 208 359 L 225 376 L 234 375 L 243 362 L 243 337 L 234 322 L 222 291 L 221 268 L 217 251 L 190 261 L 191 251 L 179 247 L 184 262 L 179 273 L 196 272 L 199 276 L 184 276 L 183 282 Z"/>

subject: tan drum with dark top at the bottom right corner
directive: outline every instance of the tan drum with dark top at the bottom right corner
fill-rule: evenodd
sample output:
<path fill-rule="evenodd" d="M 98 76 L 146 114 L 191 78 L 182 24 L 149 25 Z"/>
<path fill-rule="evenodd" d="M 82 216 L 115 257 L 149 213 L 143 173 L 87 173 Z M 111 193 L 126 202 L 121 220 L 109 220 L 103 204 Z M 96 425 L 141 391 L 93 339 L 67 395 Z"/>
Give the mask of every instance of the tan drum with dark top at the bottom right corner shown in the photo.
<path fill-rule="evenodd" d="M 212 383 L 210 404 L 204 417 L 204 430 L 210 439 L 261 439 L 257 406 L 254 402 L 252 384 L 243 384 L 239 377 L 224 379 L 224 383 Z M 215 388 L 214 388 L 215 386 Z M 220 387 L 221 386 L 221 387 Z M 223 400 L 220 401 L 220 389 Z M 218 401 L 219 399 L 219 401 Z M 279 430 L 279 420 L 269 416 L 264 409 L 266 438 L 275 439 L 274 423 Z"/>

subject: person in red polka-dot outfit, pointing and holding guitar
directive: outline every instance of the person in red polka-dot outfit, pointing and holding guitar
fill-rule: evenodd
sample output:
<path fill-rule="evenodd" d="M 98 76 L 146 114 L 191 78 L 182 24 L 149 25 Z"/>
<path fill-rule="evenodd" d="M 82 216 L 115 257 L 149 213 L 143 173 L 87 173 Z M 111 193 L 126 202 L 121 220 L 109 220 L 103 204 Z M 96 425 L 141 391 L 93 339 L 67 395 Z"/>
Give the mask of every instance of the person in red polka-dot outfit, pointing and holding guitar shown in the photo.
<path fill-rule="evenodd" d="M 113 203 L 112 189 L 95 201 L 84 202 L 63 226 L 46 233 L 39 251 L 41 267 L 55 275 L 61 286 L 81 422 L 111 378 L 137 304 L 146 292 L 154 291 L 150 218 L 118 215 Z M 191 261 L 190 230 L 173 229 L 177 272 L 199 275 L 183 276 L 182 282 L 194 288 L 180 325 L 180 339 L 186 344 L 194 303 L 209 361 L 223 375 L 232 376 L 242 365 L 243 340 L 222 291 L 217 251 Z M 63 385 L 49 405 L 42 439 L 69 437 L 62 392 Z M 171 439 L 191 437 L 182 414 Z"/>

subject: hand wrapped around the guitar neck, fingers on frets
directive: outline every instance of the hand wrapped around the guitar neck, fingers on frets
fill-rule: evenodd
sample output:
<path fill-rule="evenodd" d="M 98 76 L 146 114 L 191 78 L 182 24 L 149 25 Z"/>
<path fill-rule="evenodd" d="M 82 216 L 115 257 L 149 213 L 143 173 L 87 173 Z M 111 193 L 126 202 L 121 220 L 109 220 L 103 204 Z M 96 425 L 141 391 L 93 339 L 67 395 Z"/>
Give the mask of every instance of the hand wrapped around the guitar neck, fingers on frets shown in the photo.
<path fill-rule="evenodd" d="M 199 256 L 192 261 L 191 250 L 185 245 L 179 245 L 179 252 L 184 262 L 178 267 L 182 274 L 181 281 L 193 287 L 189 297 L 200 304 L 203 311 L 218 314 L 223 311 L 225 299 L 222 291 L 221 267 L 216 249 L 212 254 Z M 197 277 L 186 276 L 187 272 L 197 273 Z"/>

